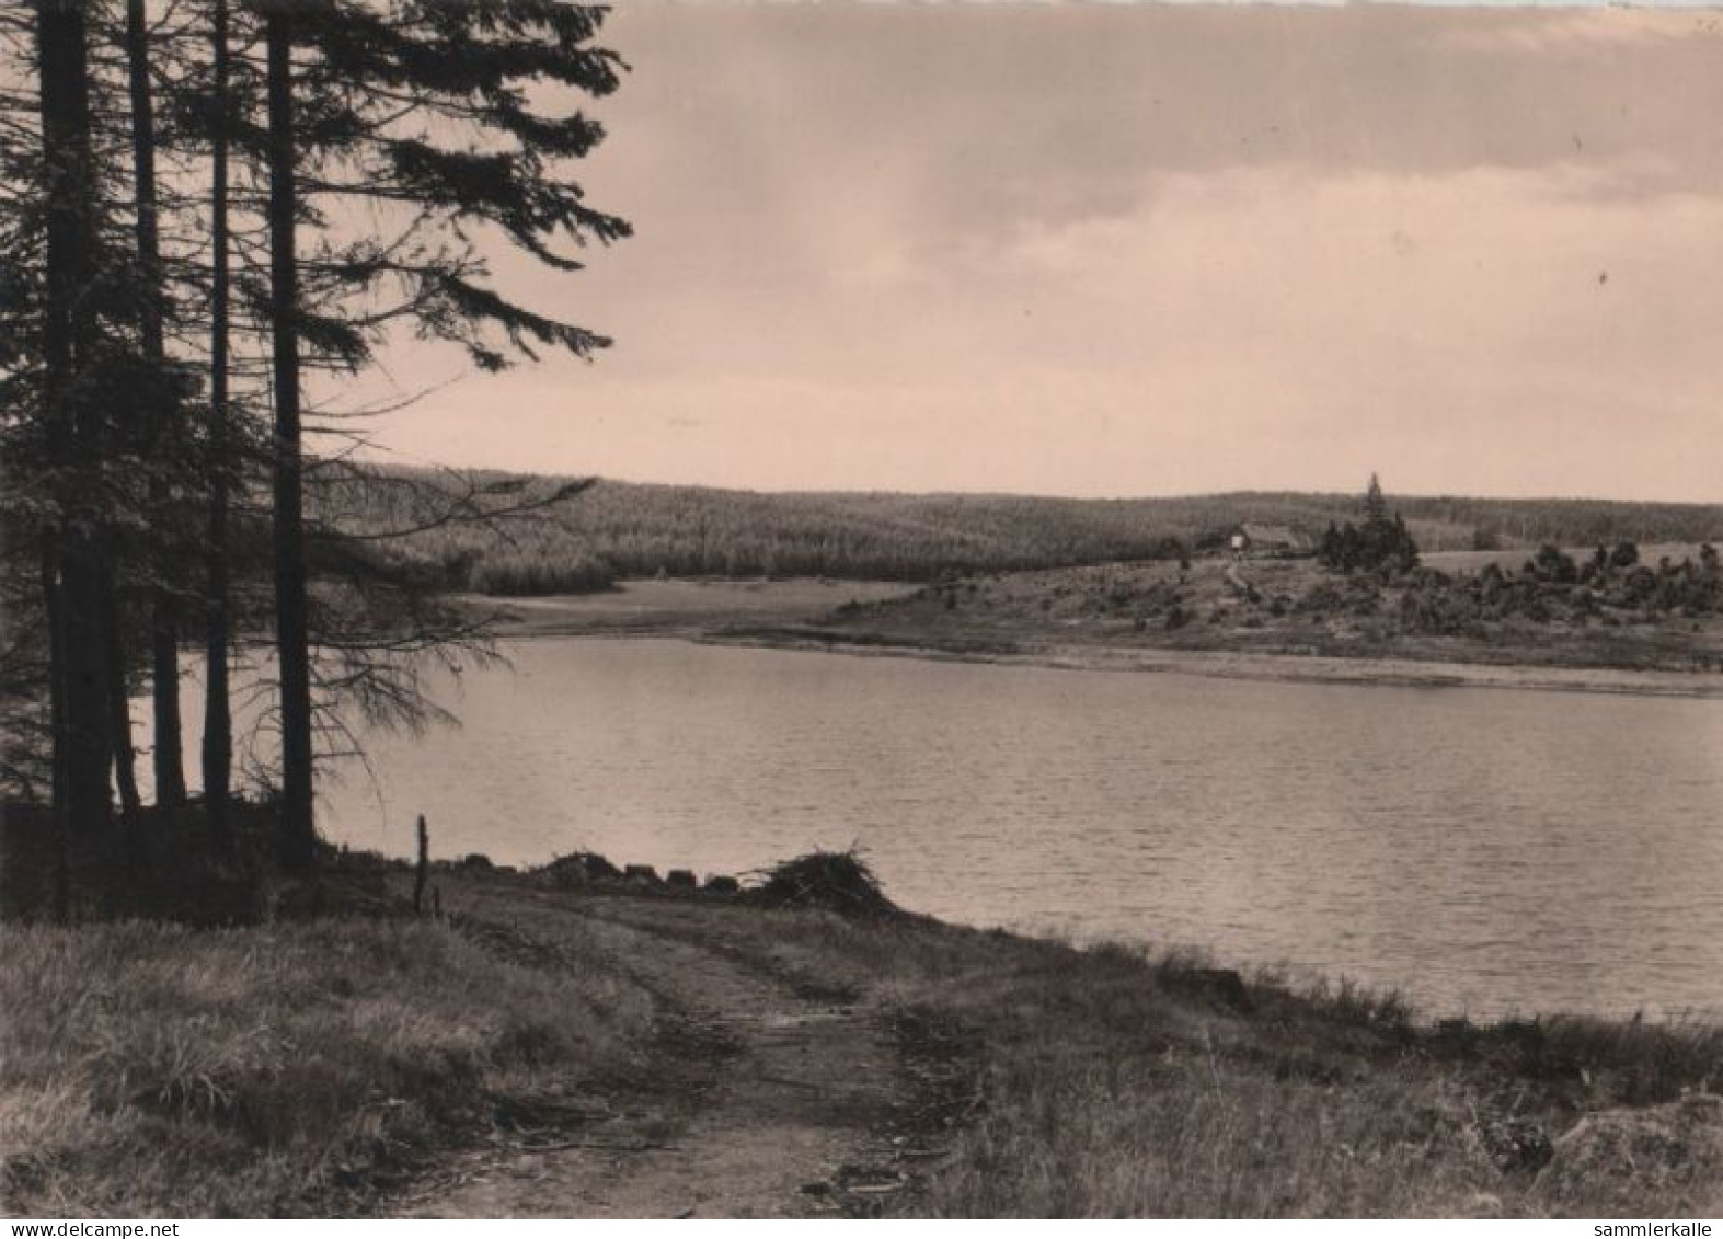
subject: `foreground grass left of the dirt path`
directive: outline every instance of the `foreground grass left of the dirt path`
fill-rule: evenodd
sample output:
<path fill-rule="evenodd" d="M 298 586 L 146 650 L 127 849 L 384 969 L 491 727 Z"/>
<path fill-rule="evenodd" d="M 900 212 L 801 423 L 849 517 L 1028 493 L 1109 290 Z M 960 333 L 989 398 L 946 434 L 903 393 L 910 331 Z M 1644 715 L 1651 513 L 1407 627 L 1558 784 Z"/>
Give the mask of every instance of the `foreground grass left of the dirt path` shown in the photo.
<path fill-rule="evenodd" d="M 52 1217 L 358 1208 L 627 1072 L 650 1017 L 615 977 L 389 920 L 9 927 L 0 1010 L 0 1196 Z"/>

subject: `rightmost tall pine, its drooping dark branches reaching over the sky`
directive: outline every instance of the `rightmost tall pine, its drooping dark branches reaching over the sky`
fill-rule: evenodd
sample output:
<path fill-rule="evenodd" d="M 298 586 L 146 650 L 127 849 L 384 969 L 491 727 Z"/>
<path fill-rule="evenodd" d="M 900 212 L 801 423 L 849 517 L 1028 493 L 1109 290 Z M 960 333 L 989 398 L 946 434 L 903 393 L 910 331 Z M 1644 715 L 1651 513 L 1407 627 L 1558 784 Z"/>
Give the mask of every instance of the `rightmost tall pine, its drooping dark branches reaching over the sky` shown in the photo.
<path fill-rule="evenodd" d="M 600 10 L 551 0 L 403 0 L 388 10 L 271 0 L 257 9 L 265 16 L 269 53 L 283 858 L 303 870 L 315 829 L 302 369 L 362 365 L 381 329 L 398 319 L 462 345 L 488 370 L 507 365 L 510 350 L 534 357 L 538 346 L 551 346 L 589 357 L 608 339 L 500 295 L 469 234 L 489 226 L 541 262 L 577 271 L 581 264 L 558 252 L 555 238 L 608 243 L 629 227 L 586 207 L 579 186 L 557 167 L 600 140 L 596 122 L 579 112 L 546 117 L 527 105 L 527 84 L 538 79 L 589 95 L 615 88 L 615 57 L 588 47 Z M 477 131 L 489 145 L 439 141 L 439 131 L 451 128 Z M 410 212 L 395 238 L 326 245 L 307 262 L 296 227 L 302 212 L 317 221 L 308 205 L 317 196 L 369 198 Z M 302 264 L 315 308 L 302 296 Z M 396 291 L 395 305 L 365 312 L 343 305 L 343 296 L 348 305 L 370 302 L 384 288 Z M 376 569 L 365 557 L 322 543 L 319 555 Z M 400 646 L 391 639 L 389 648 Z"/>

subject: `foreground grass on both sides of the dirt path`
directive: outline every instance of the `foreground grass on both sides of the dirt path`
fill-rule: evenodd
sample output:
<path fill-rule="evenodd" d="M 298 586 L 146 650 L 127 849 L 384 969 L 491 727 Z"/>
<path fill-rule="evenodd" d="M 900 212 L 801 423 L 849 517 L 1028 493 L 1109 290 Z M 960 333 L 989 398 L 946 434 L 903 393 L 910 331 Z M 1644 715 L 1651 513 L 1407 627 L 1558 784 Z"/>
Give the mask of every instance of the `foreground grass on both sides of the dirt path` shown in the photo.
<path fill-rule="evenodd" d="M 1709 1025 L 1425 1025 L 1344 986 L 896 913 L 439 882 L 448 924 L 7 929 L 10 1208 L 365 1211 L 455 1148 L 569 1148 L 594 1110 L 674 1136 L 700 1105 L 675 1082 L 724 1055 L 667 1029 L 720 962 L 894 1037 L 917 1160 L 889 1211 L 1723 1206 Z"/>

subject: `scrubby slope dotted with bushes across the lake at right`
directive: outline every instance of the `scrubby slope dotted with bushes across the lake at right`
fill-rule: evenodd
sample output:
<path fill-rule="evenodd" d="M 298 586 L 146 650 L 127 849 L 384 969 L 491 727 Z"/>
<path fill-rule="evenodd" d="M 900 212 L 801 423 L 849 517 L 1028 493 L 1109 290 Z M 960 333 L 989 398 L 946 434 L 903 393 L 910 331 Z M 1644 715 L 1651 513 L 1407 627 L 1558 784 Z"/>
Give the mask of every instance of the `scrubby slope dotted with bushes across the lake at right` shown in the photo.
<path fill-rule="evenodd" d="M 1034 655 L 1051 646 L 1311 660 L 1670 672 L 1716 682 L 1723 612 L 1659 610 L 1625 586 L 1411 574 L 1390 582 L 1313 560 L 1199 558 L 972 577 L 839 608 L 834 643 Z M 1494 593 L 1490 593 L 1494 591 Z M 1487 595 L 1480 603 L 1475 595 Z M 1447 610 L 1463 619 L 1449 622 Z"/>

